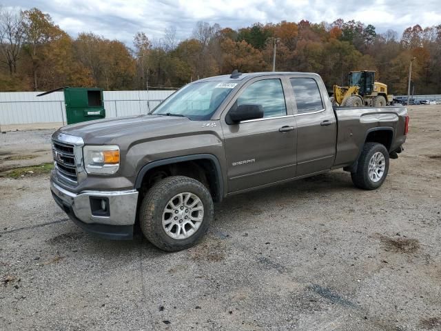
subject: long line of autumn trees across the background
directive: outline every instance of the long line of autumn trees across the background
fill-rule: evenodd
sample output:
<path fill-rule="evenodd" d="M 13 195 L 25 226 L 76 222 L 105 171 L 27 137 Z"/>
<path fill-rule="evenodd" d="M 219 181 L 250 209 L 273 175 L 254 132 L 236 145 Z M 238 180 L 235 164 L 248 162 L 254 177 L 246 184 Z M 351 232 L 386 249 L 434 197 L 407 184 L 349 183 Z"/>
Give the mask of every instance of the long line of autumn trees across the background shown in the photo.
<path fill-rule="evenodd" d="M 136 32 L 130 44 L 93 32 L 71 37 L 38 8 L 0 8 L 0 90 L 50 90 L 98 86 L 106 90 L 178 88 L 190 81 L 241 72 L 317 72 L 331 90 L 350 70 L 376 70 L 394 94 L 407 92 L 409 61 L 419 94 L 441 93 L 441 25 L 415 24 L 402 35 L 378 33 L 371 24 L 334 22 L 254 23 L 238 29 L 197 22 L 178 40 L 175 27 L 163 38 Z"/>

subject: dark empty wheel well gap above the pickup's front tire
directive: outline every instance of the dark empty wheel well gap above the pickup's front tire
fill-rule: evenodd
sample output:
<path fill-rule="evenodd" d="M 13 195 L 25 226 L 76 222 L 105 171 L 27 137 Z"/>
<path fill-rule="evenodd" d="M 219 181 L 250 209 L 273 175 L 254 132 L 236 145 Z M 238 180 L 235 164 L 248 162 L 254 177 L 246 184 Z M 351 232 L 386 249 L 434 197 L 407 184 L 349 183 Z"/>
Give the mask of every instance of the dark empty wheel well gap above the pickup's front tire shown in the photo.
<path fill-rule="evenodd" d="M 158 165 L 143 174 L 139 188 L 141 199 L 145 196 L 147 191 L 155 183 L 161 181 L 161 179 L 170 176 L 186 176 L 203 183 L 210 194 L 212 194 L 213 200 L 220 201 L 222 197 L 221 192 L 218 190 L 218 177 L 216 172 L 216 165 L 209 159 L 196 159 Z"/>

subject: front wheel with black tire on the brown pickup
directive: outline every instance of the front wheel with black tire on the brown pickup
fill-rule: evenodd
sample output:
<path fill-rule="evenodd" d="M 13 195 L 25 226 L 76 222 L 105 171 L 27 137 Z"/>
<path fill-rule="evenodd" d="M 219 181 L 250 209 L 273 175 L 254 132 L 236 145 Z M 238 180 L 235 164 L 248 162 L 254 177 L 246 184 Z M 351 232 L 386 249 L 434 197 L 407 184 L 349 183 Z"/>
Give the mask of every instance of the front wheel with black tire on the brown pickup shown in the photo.
<path fill-rule="evenodd" d="M 191 207 L 193 203 L 196 205 Z M 147 192 L 141 203 L 139 225 L 145 238 L 157 248 L 177 252 L 192 247 L 203 237 L 213 214 L 212 196 L 201 182 L 172 176 L 159 181 Z"/>

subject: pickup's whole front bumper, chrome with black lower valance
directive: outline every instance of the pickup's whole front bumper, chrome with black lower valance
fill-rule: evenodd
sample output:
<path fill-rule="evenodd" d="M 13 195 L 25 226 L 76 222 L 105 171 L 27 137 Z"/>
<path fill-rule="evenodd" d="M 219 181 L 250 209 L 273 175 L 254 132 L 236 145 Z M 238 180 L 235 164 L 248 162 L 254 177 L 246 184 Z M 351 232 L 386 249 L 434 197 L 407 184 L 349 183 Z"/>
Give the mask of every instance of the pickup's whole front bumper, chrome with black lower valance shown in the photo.
<path fill-rule="evenodd" d="M 83 230 L 107 239 L 132 239 L 138 203 L 137 190 L 84 191 L 75 194 L 50 181 L 55 202 Z M 107 201 L 108 212 L 103 216 L 92 212 L 92 199 Z"/>

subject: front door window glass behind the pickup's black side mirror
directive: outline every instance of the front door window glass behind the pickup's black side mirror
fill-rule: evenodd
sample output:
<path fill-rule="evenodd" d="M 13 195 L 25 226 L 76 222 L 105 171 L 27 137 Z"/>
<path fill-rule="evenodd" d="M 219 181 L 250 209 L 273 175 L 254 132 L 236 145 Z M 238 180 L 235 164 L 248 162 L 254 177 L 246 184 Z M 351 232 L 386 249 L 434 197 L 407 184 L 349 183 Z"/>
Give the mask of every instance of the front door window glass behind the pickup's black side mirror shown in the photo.
<path fill-rule="evenodd" d="M 278 117 L 287 114 L 285 94 L 280 79 L 264 79 L 248 86 L 236 100 L 236 106 L 260 105 L 263 117 Z"/>

